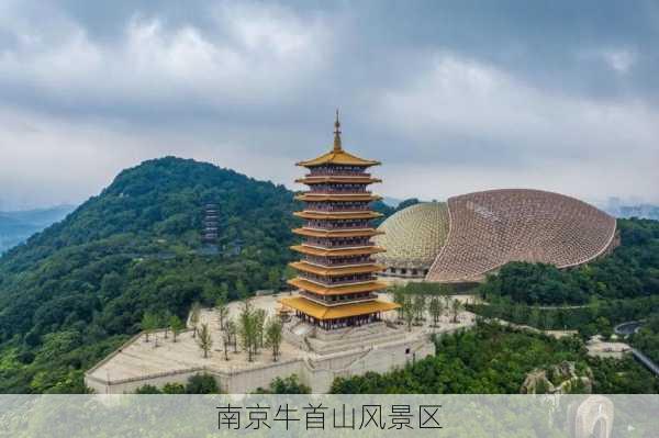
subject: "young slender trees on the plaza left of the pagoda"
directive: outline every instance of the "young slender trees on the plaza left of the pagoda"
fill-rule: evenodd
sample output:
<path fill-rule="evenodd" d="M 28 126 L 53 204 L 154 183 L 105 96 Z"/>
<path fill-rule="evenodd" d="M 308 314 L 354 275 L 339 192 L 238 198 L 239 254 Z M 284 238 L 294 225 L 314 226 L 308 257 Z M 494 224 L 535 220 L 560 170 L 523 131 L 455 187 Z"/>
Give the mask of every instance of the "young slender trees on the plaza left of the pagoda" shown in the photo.
<path fill-rule="evenodd" d="M 238 352 L 239 347 L 247 353 L 247 360 L 254 361 L 263 348 L 270 348 L 272 360 L 277 361 L 280 356 L 282 340 L 282 323 L 277 316 L 267 317 L 263 308 L 256 308 L 248 299 L 242 303 L 237 318 L 230 317 L 228 306 L 225 297 L 220 297 L 215 304 L 215 315 L 220 327 L 220 337 L 224 350 L 224 359 L 230 360 L 230 350 Z M 213 336 L 208 323 L 201 323 L 201 305 L 196 302 L 190 308 L 189 324 L 192 328 L 192 338 L 203 352 L 204 359 L 209 357 L 213 348 Z M 176 342 L 178 335 L 185 329 L 181 319 L 169 313 L 153 314 L 145 313 L 141 324 L 145 333 L 145 341 L 150 341 L 150 335 L 156 330 L 169 337 Z M 154 336 L 154 346 L 158 346 L 158 337 Z"/>

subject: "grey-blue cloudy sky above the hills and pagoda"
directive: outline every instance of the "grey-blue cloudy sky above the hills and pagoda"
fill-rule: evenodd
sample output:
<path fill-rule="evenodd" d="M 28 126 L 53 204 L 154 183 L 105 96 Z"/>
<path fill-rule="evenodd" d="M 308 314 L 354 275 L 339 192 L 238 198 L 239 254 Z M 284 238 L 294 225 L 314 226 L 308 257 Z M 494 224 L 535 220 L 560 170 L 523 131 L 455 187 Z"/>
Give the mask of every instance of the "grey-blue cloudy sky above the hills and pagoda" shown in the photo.
<path fill-rule="evenodd" d="M 0 210 L 176 155 L 286 183 L 332 142 L 378 191 L 659 202 L 659 2 L 2 0 Z"/>

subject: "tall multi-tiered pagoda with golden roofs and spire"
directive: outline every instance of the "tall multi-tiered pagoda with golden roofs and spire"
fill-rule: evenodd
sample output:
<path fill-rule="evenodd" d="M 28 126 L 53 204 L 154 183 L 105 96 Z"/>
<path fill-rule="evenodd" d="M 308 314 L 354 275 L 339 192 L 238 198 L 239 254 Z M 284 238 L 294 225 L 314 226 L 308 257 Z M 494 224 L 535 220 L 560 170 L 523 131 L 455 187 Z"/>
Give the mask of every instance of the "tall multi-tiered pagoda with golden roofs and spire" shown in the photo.
<path fill-rule="evenodd" d="M 300 261 L 290 263 L 299 274 L 289 284 L 299 294 L 281 299 L 299 318 L 324 329 L 380 321 L 383 312 L 399 307 L 377 300 L 376 294 L 387 284 L 377 281 L 375 274 L 383 267 L 372 256 L 384 249 L 371 242 L 380 232 L 370 222 L 381 214 L 369 205 L 380 196 L 367 187 L 381 180 L 366 170 L 380 162 L 343 149 L 338 111 L 334 126 L 332 150 L 297 164 L 309 173 L 295 182 L 310 188 L 297 196 L 304 210 L 294 213 L 304 220 L 301 228 L 293 229 L 303 242 L 291 247 L 302 255 Z"/>

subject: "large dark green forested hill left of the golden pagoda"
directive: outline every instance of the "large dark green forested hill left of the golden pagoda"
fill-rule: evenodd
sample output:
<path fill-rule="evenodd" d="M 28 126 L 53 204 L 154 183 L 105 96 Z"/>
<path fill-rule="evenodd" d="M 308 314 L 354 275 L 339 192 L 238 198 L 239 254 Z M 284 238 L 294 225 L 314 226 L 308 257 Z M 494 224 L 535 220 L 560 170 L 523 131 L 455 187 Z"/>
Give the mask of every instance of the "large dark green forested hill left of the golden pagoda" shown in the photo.
<path fill-rule="evenodd" d="M 206 203 L 219 211 L 216 254 L 202 250 Z M 196 300 L 280 288 L 293 210 L 283 186 L 209 164 L 167 157 L 122 171 L 0 258 L 0 393 L 81 392 L 83 370 L 144 312 L 183 316 Z"/>

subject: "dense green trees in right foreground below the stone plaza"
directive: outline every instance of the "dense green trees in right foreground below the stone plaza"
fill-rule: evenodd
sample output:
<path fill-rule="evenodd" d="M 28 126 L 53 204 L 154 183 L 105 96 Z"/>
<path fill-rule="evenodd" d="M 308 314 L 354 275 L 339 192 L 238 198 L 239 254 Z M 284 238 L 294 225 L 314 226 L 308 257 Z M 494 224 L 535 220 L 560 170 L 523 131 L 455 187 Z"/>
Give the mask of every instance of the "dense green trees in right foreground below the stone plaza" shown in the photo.
<path fill-rule="evenodd" d="M 595 359 L 578 338 L 555 339 L 480 323 L 436 340 L 437 353 L 388 373 L 338 378 L 339 394 L 515 394 L 536 369 L 576 363 L 592 373 L 595 393 L 656 393 L 659 380 L 633 359 Z"/>

